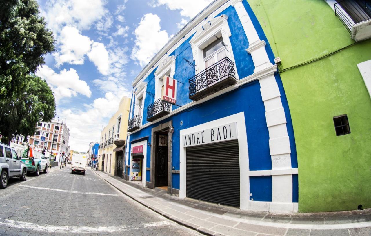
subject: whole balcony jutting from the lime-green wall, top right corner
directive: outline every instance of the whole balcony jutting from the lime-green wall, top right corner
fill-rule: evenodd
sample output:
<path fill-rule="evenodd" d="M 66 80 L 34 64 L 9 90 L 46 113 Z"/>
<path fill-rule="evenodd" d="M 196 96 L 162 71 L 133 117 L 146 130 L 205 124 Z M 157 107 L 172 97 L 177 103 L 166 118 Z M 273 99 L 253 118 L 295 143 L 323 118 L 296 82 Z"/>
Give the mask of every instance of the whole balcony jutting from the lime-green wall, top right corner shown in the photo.
<path fill-rule="evenodd" d="M 334 4 L 335 16 L 355 41 L 371 37 L 371 3 L 367 0 L 343 0 Z"/>

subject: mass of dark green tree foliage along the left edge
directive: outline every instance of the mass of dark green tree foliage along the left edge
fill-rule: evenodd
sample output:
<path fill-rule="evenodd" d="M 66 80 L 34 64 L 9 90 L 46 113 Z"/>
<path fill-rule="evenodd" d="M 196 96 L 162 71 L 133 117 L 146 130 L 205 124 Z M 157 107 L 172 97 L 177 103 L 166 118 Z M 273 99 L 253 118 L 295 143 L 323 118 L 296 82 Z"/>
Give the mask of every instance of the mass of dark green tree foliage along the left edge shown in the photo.
<path fill-rule="evenodd" d="M 54 42 L 35 0 L 1 0 L 0 134 L 8 143 L 13 134 L 33 135 L 40 119 L 55 115 L 52 90 L 34 75 Z"/>

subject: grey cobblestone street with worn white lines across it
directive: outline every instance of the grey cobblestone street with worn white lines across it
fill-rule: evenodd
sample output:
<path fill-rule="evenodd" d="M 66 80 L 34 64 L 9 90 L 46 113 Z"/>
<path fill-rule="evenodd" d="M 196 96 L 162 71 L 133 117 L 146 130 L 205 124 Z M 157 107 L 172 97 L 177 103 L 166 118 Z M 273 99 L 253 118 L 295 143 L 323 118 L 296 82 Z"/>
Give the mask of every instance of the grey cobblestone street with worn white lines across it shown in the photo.
<path fill-rule="evenodd" d="M 57 167 L 58 168 L 58 167 Z M 0 235 L 199 235 L 152 212 L 90 169 L 17 178 L 0 191 Z"/>

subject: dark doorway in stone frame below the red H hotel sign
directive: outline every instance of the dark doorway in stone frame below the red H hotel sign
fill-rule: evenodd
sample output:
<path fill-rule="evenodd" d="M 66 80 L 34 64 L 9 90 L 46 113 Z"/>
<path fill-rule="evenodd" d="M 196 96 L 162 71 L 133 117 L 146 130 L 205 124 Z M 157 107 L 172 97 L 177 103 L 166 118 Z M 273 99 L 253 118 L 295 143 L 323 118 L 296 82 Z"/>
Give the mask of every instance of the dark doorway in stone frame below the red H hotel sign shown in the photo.
<path fill-rule="evenodd" d="M 168 165 L 168 132 L 156 134 L 155 152 L 155 187 L 168 186 L 167 165 Z"/>

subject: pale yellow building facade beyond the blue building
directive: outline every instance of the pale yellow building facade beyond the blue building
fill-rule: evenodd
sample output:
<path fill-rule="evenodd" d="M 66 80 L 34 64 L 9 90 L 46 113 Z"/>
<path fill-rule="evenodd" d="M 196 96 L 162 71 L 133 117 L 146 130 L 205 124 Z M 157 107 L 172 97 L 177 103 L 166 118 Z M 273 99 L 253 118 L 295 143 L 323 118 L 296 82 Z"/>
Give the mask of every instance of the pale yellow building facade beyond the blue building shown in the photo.
<path fill-rule="evenodd" d="M 124 144 L 128 130 L 128 117 L 131 99 L 122 97 L 116 113 L 109 119 L 103 128 L 99 138 L 98 170 L 110 175 L 118 175 L 120 172 L 120 158 L 118 155 L 123 151 L 117 151 L 117 144 Z M 116 149 L 116 150 L 114 150 Z M 118 163 L 120 162 L 120 163 Z"/>

